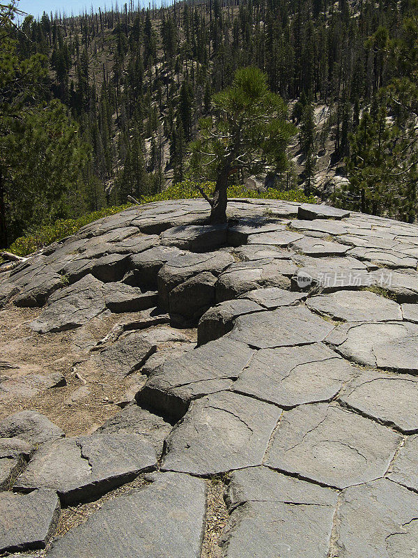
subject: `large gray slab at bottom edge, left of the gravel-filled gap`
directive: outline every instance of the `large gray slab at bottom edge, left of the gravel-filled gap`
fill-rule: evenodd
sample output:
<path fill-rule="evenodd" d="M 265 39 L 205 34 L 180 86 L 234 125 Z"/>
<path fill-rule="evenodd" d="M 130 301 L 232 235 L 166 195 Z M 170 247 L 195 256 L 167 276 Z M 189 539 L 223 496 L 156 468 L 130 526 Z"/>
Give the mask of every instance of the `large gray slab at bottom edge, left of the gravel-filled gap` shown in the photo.
<path fill-rule="evenodd" d="M 49 558 L 200 558 L 206 486 L 182 474 L 105 502 L 99 511 L 54 541 Z"/>

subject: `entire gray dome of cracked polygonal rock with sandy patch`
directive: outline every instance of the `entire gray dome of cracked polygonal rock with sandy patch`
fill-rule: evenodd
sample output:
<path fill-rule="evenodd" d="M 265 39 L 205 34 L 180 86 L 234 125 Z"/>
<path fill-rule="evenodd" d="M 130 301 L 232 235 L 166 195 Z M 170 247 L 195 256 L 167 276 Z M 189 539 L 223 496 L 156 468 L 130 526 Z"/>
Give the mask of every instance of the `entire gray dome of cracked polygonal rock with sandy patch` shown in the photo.
<path fill-rule="evenodd" d="M 412 557 L 418 227 L 132 207 L 0 282 L 0 554 Z"/>

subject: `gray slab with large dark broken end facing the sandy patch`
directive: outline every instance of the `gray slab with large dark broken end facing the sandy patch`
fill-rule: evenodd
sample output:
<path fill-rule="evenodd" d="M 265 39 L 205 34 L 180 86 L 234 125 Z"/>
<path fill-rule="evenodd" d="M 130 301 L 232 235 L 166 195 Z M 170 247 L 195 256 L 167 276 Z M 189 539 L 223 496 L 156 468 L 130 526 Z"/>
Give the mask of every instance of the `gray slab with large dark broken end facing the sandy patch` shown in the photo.
<path fill-rule="evenodd" d="M 193 398 L 229 389 L 253 354 L 228 338 L 208 342 L 153 370 L 137 402 L 178 421 Z"/>

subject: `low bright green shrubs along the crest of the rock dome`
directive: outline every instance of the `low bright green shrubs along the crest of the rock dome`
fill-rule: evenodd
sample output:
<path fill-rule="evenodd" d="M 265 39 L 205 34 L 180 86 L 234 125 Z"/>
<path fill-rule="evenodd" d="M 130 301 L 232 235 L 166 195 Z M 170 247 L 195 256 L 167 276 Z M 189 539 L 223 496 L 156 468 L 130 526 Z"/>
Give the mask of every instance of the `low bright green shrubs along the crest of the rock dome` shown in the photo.
<path fill-rule="evenodd" d="M 203 188 L 203 191 L 212 195 L 214 188 L 213 182 L 203 182 L 199 183 L 199 186 Z M 299 202 L 299 203 L 315 203 L 314 197 L 307 197 L 300 190 L 273 190 L 268 189 L 265 192 L 255 192 L 254 190 L 248 190 L 245 186 L 231 186 L 228 188 L 229 197 L 251 197 L 256 199 L 284 199 L 288 202 Z M 141 204 L 148 204 L 151 202 L 162 202 L 167 199 L 189 199 L 201 197 L 201 193 L 197 188 L 197 184 L 192 181 L 184 181 L 177 183 L 173 186 L 169 186 L 167 190 L 163 190 L 158 194 L 151 196 L 142 197 L 139 202 Z M 64 239 L 65 236 L 70 236 L 75 234 L 79 229 L 98 220 L 102 217 L 107 217 L 127 209 L 127 207 L 132 206 L 132 204 L 125 204 L 122 206 L 112 206 L 104 207 L 99 211 L 93 211 L 93 213 L 88 213 L 77 219 L 60 219 L 57 220 L 53 225 L 47 225 L 42 227 L 36 232 L 28 233 L 25 236 L 20 236 L 16 239 L 10 246 L 10 252 L 18 256 L 26 256 L 35 252 L 42 246 L 48 246 L 52 242 Z"/>

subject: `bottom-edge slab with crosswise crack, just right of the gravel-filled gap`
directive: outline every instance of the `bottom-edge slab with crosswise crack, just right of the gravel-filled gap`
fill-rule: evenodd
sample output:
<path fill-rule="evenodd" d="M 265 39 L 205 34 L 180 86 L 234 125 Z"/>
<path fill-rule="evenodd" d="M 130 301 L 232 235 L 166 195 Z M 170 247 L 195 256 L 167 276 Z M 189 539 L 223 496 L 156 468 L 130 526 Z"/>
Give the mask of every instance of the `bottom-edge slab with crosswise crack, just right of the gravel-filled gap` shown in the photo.
<path fill-rule="evenodd" d="M 234 471 L 226 558 L 326 558 L 337 493 L 266 469 Z M 238 506 L 238 507 L 236 507 Z"/>

